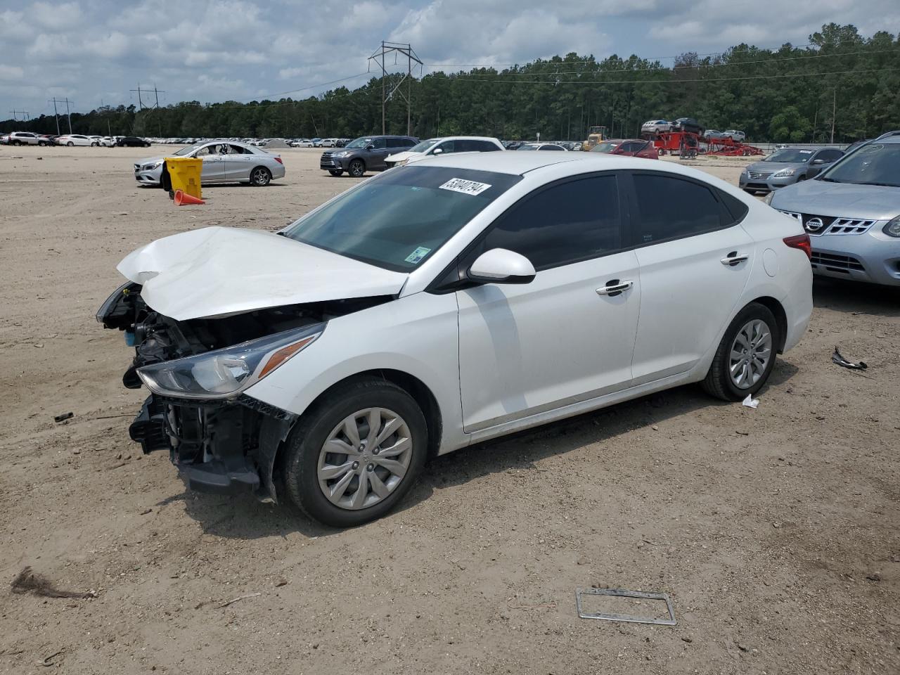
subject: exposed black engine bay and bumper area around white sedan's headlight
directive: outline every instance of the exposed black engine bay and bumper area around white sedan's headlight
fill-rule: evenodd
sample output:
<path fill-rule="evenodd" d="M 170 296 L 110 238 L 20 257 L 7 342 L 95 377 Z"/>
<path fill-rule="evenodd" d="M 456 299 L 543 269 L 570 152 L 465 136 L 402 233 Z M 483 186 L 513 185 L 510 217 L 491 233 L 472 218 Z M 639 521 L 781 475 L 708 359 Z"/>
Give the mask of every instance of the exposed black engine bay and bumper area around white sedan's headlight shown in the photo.
<path fill-rule="evenodd" d="M 177 321 L 150 308 L 140 284 L 125 284 L 97 312 L 107 329 L 119 329 L 135 348 L 122 376 L 139 389 L 143 366 L 197 356 L 205 352 L 323 325 L 329 320 L 388 302 L 392 296 L 308 302 L 237 315 Z M 170 458 L 200 491 L 254 491 L 275 500 L 272 473 L 279 444 L 296 416 L 240 394 L 227 400 L 192 400 L 151 393 L 130 426 L 130 437 L 144 453 L 167 449 Z"/>

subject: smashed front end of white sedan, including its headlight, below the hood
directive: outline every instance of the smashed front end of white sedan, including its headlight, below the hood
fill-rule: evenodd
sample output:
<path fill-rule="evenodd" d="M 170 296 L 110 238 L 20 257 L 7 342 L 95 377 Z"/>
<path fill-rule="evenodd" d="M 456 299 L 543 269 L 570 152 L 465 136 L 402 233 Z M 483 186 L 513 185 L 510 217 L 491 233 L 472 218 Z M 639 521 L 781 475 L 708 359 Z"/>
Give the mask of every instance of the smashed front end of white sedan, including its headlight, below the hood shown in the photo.
<path fill-rule="evenodd" d="M 381 298 L 268 308 L 223 318 L 176 321 L 153 311 L 139 284 L 125 284 L 97 320 L 135 348 L 122 383 L 150 391 L 130 437 L 145 453 L 168 450 L 188 487 L 275 500 L 278 447 L 296 415 L 244 393 L 308 347 L 329 319 Z"/>

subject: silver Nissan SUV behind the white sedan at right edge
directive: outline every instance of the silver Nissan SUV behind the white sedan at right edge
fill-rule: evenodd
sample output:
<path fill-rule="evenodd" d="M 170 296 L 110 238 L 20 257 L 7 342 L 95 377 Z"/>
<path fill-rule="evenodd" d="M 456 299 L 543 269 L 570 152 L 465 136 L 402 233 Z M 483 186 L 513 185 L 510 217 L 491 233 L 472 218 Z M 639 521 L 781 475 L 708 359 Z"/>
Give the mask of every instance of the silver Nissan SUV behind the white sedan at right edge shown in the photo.
<path fill-rule="evenodd" d="M 766 198 L 803 223 L 815 275 L 900 286 L 900 135 L 893 133 Z"/>

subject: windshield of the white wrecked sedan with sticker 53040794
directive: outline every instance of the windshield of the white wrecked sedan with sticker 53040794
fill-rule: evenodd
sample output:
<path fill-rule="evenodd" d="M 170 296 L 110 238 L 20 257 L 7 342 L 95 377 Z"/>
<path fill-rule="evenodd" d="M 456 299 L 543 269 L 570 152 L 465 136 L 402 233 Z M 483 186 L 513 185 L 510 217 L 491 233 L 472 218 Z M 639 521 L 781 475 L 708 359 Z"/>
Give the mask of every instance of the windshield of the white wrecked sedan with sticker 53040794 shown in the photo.
<path fill-rule="evenodd" d="M 416 269 L 520 175 L 403 166 L 297 220 L 284 236 L 395 272 Z"/>

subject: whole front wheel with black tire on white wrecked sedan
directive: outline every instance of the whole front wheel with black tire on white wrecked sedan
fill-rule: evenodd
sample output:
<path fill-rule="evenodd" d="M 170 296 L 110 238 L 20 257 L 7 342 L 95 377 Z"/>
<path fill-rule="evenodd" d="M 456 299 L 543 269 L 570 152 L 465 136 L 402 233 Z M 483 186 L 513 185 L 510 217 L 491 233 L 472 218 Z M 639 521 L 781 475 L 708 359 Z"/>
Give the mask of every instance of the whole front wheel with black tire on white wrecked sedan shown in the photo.
<path fill-rule="evenodd" d="M 409 393 L 384 380 L 356 380 L 313 404 L 294 428 L 284 485 L 311 518 L 356 527 L 403 499 L 427 448 L 428 425 Z"/>

